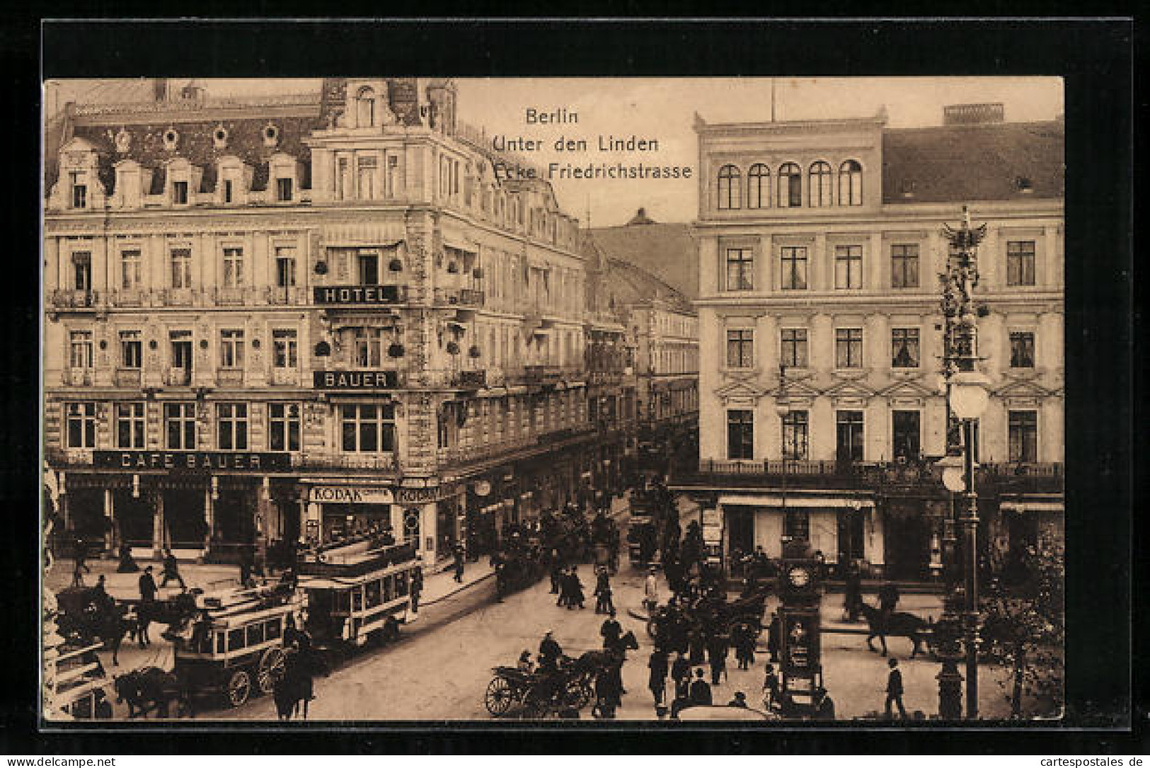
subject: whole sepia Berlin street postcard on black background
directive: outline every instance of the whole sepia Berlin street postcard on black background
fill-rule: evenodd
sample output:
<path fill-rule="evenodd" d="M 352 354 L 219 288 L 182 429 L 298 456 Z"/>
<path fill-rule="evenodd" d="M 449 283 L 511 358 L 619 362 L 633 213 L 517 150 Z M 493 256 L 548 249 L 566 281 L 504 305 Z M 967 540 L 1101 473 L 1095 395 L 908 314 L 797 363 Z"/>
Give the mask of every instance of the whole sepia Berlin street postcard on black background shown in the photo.
<path fill-rule="evenodd" d="M 1058 722 L 1063 85 L 46 80 L 45 725 Z"/>

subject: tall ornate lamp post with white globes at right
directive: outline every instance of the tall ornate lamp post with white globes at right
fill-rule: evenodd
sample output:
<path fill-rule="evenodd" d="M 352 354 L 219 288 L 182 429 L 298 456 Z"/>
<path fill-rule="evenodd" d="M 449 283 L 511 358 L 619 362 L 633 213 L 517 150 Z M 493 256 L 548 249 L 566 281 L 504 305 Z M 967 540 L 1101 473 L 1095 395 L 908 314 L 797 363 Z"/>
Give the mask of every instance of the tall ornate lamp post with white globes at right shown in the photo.
<path fill-rule="evenodd" d="M 938 462 L 943 484 L 951 496 L 952 517 L 963 533 L 963 590 L 961 614 L 959 615 L 958 576 L 954 573 L 953 527 L 948 520 L 944 529 L 944 547 L 949 544 L 950 556 L 946 565 L 946 610 L 940 622 L 938 655 L 943 668 L 938 674 L 938 714 L 943 719 L 958 719 L 958 697 L 961 675 L 958 673 L 958 633 L 961 629 L 966 656 L 966 717 L 974 720 L 979 714 L 979 498 L 974 487 L 974 423 L 986 410 L 989 394 L 987 377 L 976 369 L 977 325 L 973 291 L 979 283 L 977 246 L 986 236 L 986 224 L 971 228 L 971 215 L 963 207 L 963 225 L 952 229 L 943 226 L 943 235 L 950 241 L 946 272 L 942 282 L 942 313 L 945 318 L 943 377 L 948 405 L 948 455 Z M 950 436 L 950 414 L 960 424 L 961 459 L 954 455 Z M 956 504 L 956 497 L 961 501 Z M 956 508 L 957 507 L 957 508 Z M 949 542 L 948 542 L 949 539 Z M 944 548 L 945 551 L 945 548 Z"/>

